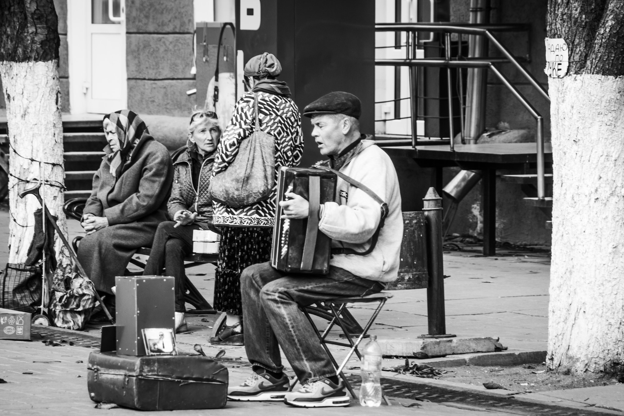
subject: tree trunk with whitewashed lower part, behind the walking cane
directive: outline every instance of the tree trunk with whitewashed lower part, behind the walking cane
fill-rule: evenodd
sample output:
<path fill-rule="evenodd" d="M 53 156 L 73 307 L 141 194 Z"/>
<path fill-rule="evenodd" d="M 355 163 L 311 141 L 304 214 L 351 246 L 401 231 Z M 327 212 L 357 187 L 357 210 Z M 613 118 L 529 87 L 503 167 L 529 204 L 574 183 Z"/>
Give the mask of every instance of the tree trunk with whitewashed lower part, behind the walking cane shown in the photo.
<path fill-rule="evenodd" d="M 9 263 L 23 263 L 32 241 L 35 196 L 18 194 L 44 179 L 46 206 L 62 211 L 64 168 L 59 89 L 59 34 L 52 0 L 0 0 L 0 77 L 9 135 Z M 57 274 L 69 268 L 67 250 L 55 241 Z"/>

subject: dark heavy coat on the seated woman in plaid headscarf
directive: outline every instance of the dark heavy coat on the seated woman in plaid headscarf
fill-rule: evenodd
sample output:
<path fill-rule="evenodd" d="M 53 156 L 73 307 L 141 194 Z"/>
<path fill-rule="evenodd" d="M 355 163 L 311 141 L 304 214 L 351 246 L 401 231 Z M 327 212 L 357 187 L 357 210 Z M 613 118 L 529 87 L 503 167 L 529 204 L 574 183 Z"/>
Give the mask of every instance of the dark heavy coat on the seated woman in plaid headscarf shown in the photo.
<path fill-rule="evenodd" d="M 105 216 L 109 225 L 166 221 L 173 167 L 167 148 L 144 134 L 117 180 L 107 156 L 93 177 L 84 214 Z"/>

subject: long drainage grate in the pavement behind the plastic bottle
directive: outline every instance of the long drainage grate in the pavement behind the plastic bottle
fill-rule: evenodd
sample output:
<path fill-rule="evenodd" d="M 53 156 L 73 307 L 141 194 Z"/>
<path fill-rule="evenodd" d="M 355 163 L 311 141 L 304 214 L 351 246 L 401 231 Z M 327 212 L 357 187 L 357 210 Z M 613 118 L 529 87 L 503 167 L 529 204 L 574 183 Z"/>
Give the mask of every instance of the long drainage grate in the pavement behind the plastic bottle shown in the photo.
<path fill-rule="evenodd" d="M 359 388 L 361 377 L 349 375 L 347 379 L 354 388 Z M 381 379 L 384 393 L 388 397 L 411 400 L 429 400 L 436 403 L 467 404 L 486 410 L 500 410 L 502 412 L 529 416 L 597 416 L 603 412 L 586 409 L 573 409 L 548 404 L 535 404 L 516 400 L 514 396 L 495 397 L 489 394 L 434 387 L 429 384 L 420 384 L 403 380 L 392 380 L 386 377 Z"/>

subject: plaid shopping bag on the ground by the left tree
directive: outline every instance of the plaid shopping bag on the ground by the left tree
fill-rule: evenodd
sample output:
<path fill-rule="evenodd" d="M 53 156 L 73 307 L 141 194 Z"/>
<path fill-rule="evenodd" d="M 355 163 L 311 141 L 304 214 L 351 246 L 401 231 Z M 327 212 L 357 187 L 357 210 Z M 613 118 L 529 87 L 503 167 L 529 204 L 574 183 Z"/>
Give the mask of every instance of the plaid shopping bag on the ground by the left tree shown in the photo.
<path fill-rule="evenodd" d="M 0 278 L 0 307 L 33 313 L 41 303 L 41 268 L 8 263 Z"/>

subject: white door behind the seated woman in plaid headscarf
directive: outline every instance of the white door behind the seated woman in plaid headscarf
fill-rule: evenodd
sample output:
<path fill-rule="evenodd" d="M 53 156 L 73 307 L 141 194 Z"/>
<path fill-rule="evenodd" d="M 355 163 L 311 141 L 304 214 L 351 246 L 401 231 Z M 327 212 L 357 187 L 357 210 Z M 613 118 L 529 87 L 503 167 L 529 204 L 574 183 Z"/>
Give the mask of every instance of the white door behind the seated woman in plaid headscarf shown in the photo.
<path fill-rule="evenodd" d="M 127 107 L 125 0 L 87 0 L 88 113 L 106 114 Z"/>

